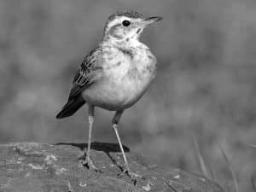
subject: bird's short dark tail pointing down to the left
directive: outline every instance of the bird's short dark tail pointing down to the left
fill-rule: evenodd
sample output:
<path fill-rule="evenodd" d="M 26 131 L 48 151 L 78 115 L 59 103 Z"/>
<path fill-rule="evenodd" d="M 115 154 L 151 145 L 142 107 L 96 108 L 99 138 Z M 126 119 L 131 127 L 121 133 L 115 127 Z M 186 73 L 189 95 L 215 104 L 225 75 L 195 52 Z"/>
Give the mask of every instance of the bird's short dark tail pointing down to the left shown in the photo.
<path fill-rule="evenodd" d="M 73 113 L 76 113 L 79 110 L 79 108 L 81 108 L 84 105 L 84 103 L 85 101 L 82 96 L 79 96 L 79 98 L 75 98 L 73 100 L 68 101 L 61 109 L 61 112 L 56 115 L 56 118 L 62 119 L 73 115 Z"/>

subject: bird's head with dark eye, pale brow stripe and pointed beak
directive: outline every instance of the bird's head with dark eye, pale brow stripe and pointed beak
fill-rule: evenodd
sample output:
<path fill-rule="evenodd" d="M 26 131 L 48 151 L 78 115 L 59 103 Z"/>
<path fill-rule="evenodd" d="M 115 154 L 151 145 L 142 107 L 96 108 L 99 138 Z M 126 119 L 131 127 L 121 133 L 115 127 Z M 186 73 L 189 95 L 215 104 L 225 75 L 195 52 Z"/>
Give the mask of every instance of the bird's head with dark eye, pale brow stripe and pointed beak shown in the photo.
<path fill-rule="evenodd" d="M 126 42 L 138 39 L 146 26 L 161 19 L 159 16 L 144 17 L 135 11 L 118 12 L 109 16 L 104 38 L 114 38 Z"/>

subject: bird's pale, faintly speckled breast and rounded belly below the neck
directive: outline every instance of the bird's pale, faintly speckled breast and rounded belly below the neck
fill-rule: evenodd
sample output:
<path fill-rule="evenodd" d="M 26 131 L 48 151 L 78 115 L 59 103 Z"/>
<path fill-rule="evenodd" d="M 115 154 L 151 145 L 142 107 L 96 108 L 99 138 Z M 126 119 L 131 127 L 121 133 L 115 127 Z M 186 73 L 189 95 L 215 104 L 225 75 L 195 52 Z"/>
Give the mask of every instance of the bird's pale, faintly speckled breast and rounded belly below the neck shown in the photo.
<path fill-rule="evenodd" d="M 149 51 L 129 55 L 114 53 L 105 58 L 102 81 L 88 92 L 92 104 L 117 110 L 130 108 L 137 102 L 154 79 L 156 60 Z M 92 101 L 93 100 L 93 101 Z M 88 101 L 88 98 L 87 98 Z"/>

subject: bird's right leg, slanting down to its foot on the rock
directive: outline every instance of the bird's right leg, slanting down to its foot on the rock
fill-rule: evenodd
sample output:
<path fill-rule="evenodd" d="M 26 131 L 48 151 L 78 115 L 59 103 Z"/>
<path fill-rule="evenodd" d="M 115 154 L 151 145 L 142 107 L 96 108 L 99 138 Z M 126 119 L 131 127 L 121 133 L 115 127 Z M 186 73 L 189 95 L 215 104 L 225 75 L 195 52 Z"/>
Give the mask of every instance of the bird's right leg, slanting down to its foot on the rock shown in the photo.
<path fill-rule="evenodd" d="M 129 166 L 128 161 L 127 161 L 126 156 L 125 156 L 125 151 L 124 151 L 123 145 L 122 145 L 120 137 L 119 137 L 119 131 L 118 131 L 119 125 L 118 124 L 119 124 L 119 119 L 121 118 L 121 115 L 122 115 L 123 112 L 124 112 L 124 110 L 117 111 L 115 113 L 115 115 L 113 116 L 113 120 L 112 120 L 112 127 L 113 127 L 113 131 L 115 132 L 115 135 L 118 139 L 119 148 L 121 149 L 121 152 L 123 154 L 123 158 L 124 158 L 124 161 L 125 161 L 125 166 L 124 166 L 123 172 L 127 173 L 128 176 L 131 177 L 131 179 L 136 182 L 136 178 L 143 178 L 143 177 L 138 175 L 137 173 L 131 172 L 130 166 Z"/>

